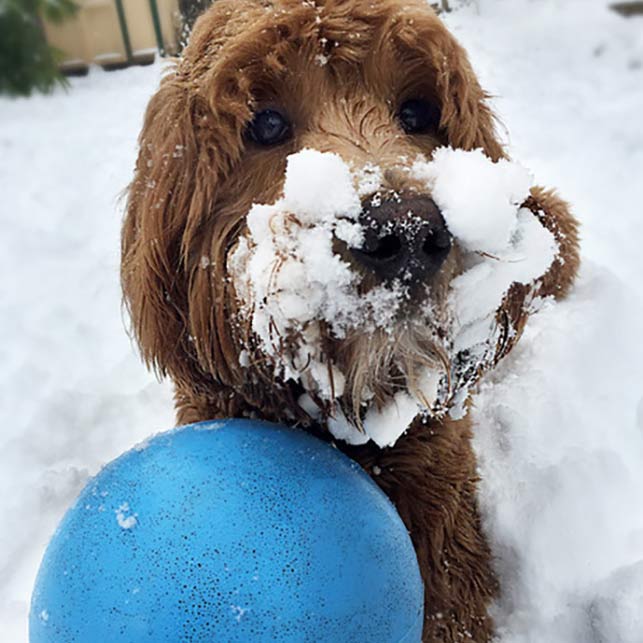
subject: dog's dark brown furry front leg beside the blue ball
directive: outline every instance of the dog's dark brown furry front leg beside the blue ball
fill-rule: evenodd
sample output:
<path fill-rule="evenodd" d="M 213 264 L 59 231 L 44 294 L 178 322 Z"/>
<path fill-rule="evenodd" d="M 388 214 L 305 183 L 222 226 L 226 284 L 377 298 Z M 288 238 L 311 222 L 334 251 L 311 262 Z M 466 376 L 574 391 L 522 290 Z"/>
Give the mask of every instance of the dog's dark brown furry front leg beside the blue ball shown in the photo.
<path fill-rule="evenodd" d="M 338 444 L 393 501 L 425 583 L 424 643 L 491 640 L 487 607 L 497 581 L 476 505 L 468 418 L 416 420 L 392 448 Z"/>

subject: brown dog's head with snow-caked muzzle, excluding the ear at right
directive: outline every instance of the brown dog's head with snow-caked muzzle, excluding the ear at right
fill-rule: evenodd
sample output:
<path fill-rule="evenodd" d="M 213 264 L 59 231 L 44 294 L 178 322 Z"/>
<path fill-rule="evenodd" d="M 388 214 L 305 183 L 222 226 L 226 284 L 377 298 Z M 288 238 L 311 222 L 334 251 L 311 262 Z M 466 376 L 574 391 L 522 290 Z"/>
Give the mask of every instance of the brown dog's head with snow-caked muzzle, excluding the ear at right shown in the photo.
<path fill-rule="evenodd" d="M 425 0 L 212 4 L 148 106 L 123 227 L 136 337 L 181 421 L 391 444 L 458 412 L 512 345 L 508 283 L 545 269 L 485 98 Z"/>

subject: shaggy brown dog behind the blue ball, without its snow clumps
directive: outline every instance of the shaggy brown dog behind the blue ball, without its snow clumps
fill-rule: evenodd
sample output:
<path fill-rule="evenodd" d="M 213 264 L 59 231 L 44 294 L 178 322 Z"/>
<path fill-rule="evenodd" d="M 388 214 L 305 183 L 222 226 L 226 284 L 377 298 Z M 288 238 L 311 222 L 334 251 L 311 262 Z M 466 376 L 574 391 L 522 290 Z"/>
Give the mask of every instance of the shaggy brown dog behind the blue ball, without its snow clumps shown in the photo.
<path fill-rule="evenodd" d="M 317 415 L 303 408 L 302 382 L 275 371 L 248 323 L 230 268 L 246 215 L 280 197 L 289 155 L 314 149 L 382 168 L 384 202 L 365 208 L 373 225 L 396 229 L 410 208 L 443 228 L 431 194 L 400 164 L 442 146 L 505 158 L 487 100 L 465 51 L 423 0 L 217 0 L 199 18 L 147 108 L 122 233 L 133 330 L 146 363 L 174 382 L 179 423 L 256 417 L 332 439 L 333 405 L 318 396 Z M 559 254 L 536 284 L 516 283 L 505 296 L 496 313 L 505 332 L 487 367 L 518 341 L 529 302 L 563 297 L 579 264 L 568 205 L 539 187 L 523 205 Z M 457 243 L 442 246 L 435 265 L 412 271 L 415 284 L 431 283 L 434 309 L 461 270 Z M 386 282 L 388 268 L 372 253 L 347 261 L 361 292 Z M 419 292 L 408 290 L 407 316 Z M 395 324 L 401 335 L 403 321 Z M 346 374 L 338 404 L 359 425 L 361 409 L 404 386 L 403 360 L 390 357 L 395 351 L 377 333 L 339 338 L 319 328 L 329 363 Z M 418 359 L 435 354 L 421 328 L 409 342 Z M 408 528 L 425 582 L 424 641 L 493 637 L 489 607 L 499 587 L 476 504 L 471 438 L 468 416 L 424 414 L 392 447 L 337 441 Z"/>

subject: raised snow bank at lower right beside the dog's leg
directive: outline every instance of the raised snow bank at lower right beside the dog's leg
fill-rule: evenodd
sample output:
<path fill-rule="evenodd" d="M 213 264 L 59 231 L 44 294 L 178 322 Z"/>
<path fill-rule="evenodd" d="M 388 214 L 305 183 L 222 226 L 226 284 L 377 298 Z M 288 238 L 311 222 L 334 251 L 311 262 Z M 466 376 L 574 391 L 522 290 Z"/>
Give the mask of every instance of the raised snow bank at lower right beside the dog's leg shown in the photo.
<path fill-rule="evenodd" d="M 503 643 L 643 641 L 641 319 L 586 265 L 474 398 Z"/>

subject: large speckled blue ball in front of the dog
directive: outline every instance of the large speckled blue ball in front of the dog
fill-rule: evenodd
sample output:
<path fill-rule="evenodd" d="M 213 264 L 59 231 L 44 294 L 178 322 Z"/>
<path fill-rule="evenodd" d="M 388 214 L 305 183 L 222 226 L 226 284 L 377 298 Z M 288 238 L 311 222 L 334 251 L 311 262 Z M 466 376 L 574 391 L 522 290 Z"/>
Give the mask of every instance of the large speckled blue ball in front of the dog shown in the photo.
<path fill-rule="evenodd" d="M 296 429 L 204 422 L 106 466 L 45 553 L 31 643 L 417 643 L 423 585 L 395 508 Z"/>

